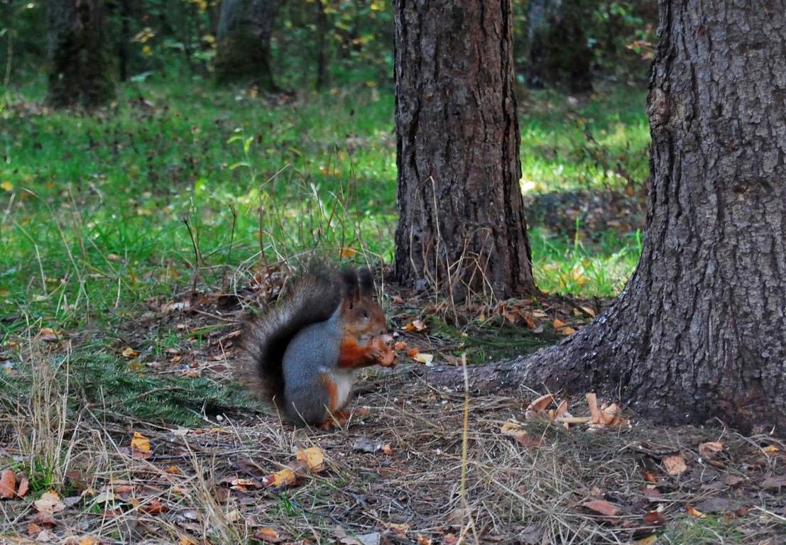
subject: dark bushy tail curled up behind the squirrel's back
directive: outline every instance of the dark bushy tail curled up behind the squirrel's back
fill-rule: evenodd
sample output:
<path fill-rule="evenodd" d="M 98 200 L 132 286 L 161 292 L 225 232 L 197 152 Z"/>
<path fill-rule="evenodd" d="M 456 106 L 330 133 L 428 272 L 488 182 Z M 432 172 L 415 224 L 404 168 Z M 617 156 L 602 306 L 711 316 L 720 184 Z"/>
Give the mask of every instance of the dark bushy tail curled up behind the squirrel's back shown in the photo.
<path fill-rule="evenodd" d="M 284 298 L 245 325 L 241 340 L 241 376 L 265 401 L 284 403 L 284 353 L 298 331 L 328 320 L 341 304 L 346 287 L 329 269 L 301 276 Z"/>

